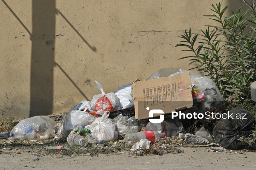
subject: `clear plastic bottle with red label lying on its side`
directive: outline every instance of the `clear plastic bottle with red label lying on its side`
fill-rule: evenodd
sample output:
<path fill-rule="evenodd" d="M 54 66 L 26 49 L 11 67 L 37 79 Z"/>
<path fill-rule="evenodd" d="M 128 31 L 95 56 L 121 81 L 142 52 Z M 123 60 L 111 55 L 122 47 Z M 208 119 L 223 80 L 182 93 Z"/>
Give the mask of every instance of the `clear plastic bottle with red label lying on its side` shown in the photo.
<path fill-rule="evenodd" d="M 139 142 L 140 139 L 148 139 L 151 143 L 154 143 L 157 139 L 161 137 L 165 137 L 166 133 L 159 133 L 157 131 L 143 131 L 137 133 L 128 133 L 125 135 L 125 142 L 129 141 L 137 141 Z"/>

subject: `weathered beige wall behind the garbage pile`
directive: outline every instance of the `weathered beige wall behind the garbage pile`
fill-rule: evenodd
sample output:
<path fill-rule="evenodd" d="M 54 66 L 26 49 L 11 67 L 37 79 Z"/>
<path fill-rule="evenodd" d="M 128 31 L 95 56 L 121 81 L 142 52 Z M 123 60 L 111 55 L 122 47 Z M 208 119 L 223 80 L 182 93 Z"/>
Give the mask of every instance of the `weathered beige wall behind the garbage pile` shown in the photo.
<path fill-rule="evenodd" d="M 25 118 L 64 113 L 100 94 L 94 80 L 113 92 L 161 68 L 189 69 L 177 36 L 212 23 L 203 15 L 216 2 L 1 0 L 0 108 Z"/>

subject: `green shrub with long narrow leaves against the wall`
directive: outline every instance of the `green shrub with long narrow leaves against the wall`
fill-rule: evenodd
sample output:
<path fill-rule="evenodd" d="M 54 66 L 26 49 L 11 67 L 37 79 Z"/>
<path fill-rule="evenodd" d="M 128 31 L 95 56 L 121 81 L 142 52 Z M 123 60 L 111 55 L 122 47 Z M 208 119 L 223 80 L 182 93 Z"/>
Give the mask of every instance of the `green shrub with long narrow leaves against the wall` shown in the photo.
<path fill-rule="evenodd" d="M 226 98 L 233 94 L 243 101 L 250 99 L 250 84 L 256 81 L 256 15 L 248 17 L 241 9 L 229 17 L 224 17 L 228 6 L 212 4 L 213 14 L 204 15 L 217 22 L 217 26 L 207 26 L 206 30 L 192 35 L 191 29 L 181 35 L 182 51 L 191 51 L 189 65 L 194 65 L 199 73 L 210 77 Z M 199 40 L 199 42 L 198 42 Z M 192 68 L 192 69 L 194 69 Z"/>

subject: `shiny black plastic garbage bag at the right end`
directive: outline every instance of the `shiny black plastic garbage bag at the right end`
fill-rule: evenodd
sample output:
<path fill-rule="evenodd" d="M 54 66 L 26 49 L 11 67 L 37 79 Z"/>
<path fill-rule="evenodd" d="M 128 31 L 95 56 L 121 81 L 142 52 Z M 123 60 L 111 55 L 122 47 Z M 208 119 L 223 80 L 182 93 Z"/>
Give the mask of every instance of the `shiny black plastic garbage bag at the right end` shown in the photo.
<path fill-rule="evenodd" d="M 232 115 L 232 118 L 228 118 L 228 114 Z M 224 114 L 218 121 L 217 125 L 213 128 L 213 135 L 222 147 L 237 150 L 242 147 L 239 141 L 240 137 L 245 138 L 250 135 L 254 127 L 255 120 L 253 116 L 248 111 L 236 107 L 232 111 L 229 111 L 227 115 Z"/>

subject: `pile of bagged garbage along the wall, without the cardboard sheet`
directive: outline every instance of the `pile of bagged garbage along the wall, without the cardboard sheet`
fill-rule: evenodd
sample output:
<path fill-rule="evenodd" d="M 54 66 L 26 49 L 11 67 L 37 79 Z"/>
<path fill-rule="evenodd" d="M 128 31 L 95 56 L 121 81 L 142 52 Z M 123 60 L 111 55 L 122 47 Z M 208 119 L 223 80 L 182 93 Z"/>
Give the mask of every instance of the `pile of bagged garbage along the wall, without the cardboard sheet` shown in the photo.
<path fill-rule="evenodd" d="M 161 69 L 147 80 L 172 77 L 186 72 L 182 69 Z M 192 111 L 204 113 L 211 106 L 218 105 L 223 97 L 218 88 L 208 77 L 190 72 L 192 82 Z M 214 138 L 201 127 L 194 134 L 181 133 L 183 123 L 179 119 L 166 118 L 161 123 L 147 120 L 138 121 L 133 115 L 123 115 L 125 109 L 133 110 L 131 83 L 123 85 L 114 93 L 105 93 L 99 82 L 95 81 L 101 94 L 94 95 L 91 101 L 81 101 L 67 113 L 59 125 L 48 116 L 34 116 L 21 120 L 11 133 L 2 133 L 0 138 L 19 139 L 66 139 L 70 145 L 87 147 L 89 143 L 116 141 L 131 146 L 131 150 L 143 152 L 162 137 L 177 136 L 189 143 L 209 144 L 217 142 L 227 149 L 242 147 L 239 139 L 247 137 L 255 127 L 253 116 L 241 108 L 230 111 L 233 116 L 221 117 L 213 129 Z M 119 111 L 119 112 L 117 112 Z M 170 111 L 172 112 L 172 111 Z M 114 115 L 112 113 L 119 113 Z M 111 116 L 112 115 L 112 116 Z M 245 116 L 244 116 L 245 115 Z M 241 116 L 244 116 L 241 119 Z M 113 119 L 111 119 L 112 117 Z M 134 141 L 137 142 L 134 144 Z"/>

